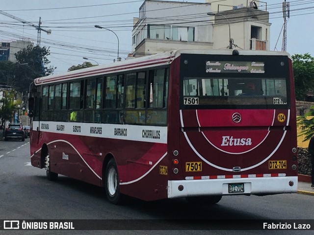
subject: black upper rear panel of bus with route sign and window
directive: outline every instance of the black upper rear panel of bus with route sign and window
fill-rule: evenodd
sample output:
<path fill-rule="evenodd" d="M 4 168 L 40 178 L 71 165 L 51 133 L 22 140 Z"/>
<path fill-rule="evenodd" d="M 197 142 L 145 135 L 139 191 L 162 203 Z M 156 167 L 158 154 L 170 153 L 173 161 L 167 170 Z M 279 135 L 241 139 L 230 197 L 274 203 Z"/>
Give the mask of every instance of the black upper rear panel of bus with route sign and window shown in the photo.
<path fill-rule="evenodd" d="M 182 109 L 287 109 L 288 58 L 184 54 Z"/>

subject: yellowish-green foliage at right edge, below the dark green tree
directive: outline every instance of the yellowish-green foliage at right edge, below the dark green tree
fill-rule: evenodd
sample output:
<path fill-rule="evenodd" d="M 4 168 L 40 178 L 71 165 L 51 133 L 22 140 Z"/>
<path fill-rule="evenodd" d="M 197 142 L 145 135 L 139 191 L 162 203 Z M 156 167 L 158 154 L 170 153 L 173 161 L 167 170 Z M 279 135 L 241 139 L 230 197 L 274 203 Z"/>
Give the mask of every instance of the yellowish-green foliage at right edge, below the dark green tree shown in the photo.
<path fill-rule="evenodd" d="M 313 117 L 312 117 L 313 116 Z M 303 141 L 308 141 L 314 135 L 314 106 L 310 108 L 310 112 L 304 116 L 296 118 L 297 126 L 300 128 L 300 134 L 298 136 L 304 136 Z"/>

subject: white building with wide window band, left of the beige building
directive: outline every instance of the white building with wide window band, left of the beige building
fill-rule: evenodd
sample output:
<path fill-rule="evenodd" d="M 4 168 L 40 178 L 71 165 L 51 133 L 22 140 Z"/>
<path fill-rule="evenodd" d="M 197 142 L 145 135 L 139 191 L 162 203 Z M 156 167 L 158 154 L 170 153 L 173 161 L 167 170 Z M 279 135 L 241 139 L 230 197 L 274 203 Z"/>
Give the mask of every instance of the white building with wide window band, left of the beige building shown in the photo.
<path fill-rule="evenodd" d="M 174 49 L 213 48 L 210 4 L 145 0 L 134 18 L 132 51 L 137 56 Z"/>

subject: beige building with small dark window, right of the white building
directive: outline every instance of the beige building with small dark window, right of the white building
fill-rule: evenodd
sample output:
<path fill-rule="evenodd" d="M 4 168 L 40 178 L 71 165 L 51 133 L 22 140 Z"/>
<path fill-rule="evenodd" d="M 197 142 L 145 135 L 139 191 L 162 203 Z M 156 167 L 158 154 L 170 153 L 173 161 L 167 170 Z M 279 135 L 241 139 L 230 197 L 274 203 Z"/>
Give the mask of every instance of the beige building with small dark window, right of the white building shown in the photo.
<path fill-rule="evenodd" d="M 271 24 L 265 2 L 260 4 L 260 1 L 249 0 L 206 1 L 208 3 L 212 1 L 212 13 L 216 14 L 211 17 L 214 22 L 214 48 L 229 46 L 230 26 L 230 37 L 237 46 L 235 48 L 269 50 Z"/>

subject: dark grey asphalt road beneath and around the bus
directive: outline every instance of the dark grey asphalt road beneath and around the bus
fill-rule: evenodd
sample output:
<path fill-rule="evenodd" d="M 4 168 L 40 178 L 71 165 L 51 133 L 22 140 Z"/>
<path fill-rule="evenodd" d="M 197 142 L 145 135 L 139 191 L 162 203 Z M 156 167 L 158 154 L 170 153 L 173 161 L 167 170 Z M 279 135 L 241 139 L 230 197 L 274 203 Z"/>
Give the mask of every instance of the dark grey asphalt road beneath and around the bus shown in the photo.
<path fill-rule="evenodd" d="M 115 226 L 121 223 L 121 228 L 129 228 L 126 223 L 135 219 L 147 230 L 0 231 L 0 235 L 313 234 L 313 231 L 206 231 L 214 228 L 210 221 L 216 219 L 227 219 L 226 228 L 229 223 L 239 223 L 240 229 L 245 229 L 243 221 L 231 220 L 313 220 L 314 197 L 310 195 L 225 196 L 213 206 L 188 204 L 184 199 L 144 202 L 127 198 L 123 205 L 115 206 L 105 199 L 102 188 L 65 176 L 59 176 L 56 182 L 48 181 L 44 169 L 30 165 L 28 141 L 0 141 L 0 219 L 106 219 Z M 149 228 L 160 230 L 148 231 Z M 168 228 L 173 230 L 162 231 Z"/>

